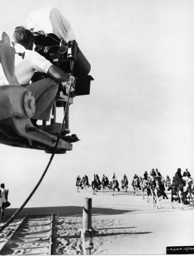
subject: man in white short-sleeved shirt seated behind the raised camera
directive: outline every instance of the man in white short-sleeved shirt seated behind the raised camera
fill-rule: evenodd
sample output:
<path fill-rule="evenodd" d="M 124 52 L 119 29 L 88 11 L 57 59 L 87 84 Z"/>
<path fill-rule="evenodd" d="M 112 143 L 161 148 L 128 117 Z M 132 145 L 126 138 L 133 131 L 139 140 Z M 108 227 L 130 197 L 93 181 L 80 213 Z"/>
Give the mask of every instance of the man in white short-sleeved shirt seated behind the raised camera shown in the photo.
<path fill-rule="evenodd" d="M 17 54 L 15 56 L 15 74 L 19 84 L 31 91 L 35 97 L 36 109 L 31 122 L 36 126 L 37 119 L 49 120 L 58 83 L 66 82 L 68 74 L 33 51 L 34 35 L 28 29 L 17 27 L 13 38 L 16 52 L 25 52 L 24 58 Z M 35 71 L 47 73 L 50 77 L 29 84 Z"/>

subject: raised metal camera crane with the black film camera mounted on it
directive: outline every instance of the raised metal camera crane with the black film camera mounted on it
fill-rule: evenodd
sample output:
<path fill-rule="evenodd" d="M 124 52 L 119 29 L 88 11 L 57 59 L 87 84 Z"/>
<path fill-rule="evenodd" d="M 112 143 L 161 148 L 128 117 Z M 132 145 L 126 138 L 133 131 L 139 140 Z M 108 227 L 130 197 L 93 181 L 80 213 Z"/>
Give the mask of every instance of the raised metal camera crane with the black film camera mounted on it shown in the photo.
<path fill-rule="evenodd" d="M 66 151 L 72 150 L 72 143 L 79 139 L 75 134 L 67 135 L 70 132 L 69 105 L 73 104 L 75 96 L 90 94 L 90 81 L 94 80 L 88 75 L 90 64 L 79 50 L 76 41 L 70 41 L 68 44 L 60 42 L 59 45 L 56 45 L 55 40 L 55 45 L 52 45 L 52 42 L 49 45 L 44 45 L 47 44 L 45 36 L 36 35 L 35 37 L 35 51 L 44 55 L 64 72 L 68 71 L 71 76 L 75 77 L 76 81 L 74 92 L 68 91 L 68 84 L 61 85 L 55 98 L 50 125 L 43 122 L 43 125 L 37 128 L 30 120 L 35 113 L 34 96 L 19 85 L 15 76 L 15 49 L 10 46 L 10 38 L 5 32 L 0 37 L 0 69 L 2 69 L 0 71 L 3 75 L 0 80 L 6 81 L 6 85 L 0 86 L 0 143 L 52 153 L 57 141 L 57 131 L 61 125 L 56 123 L 56 107 L 64 107 L 66 112 L 64 129 L 55 153 L 66 153 Z M 25 57 L 25 53 L 17 54 Z M 32 82 L 44 77 L 47 77 L 47 74 L 35 72 Z"/>

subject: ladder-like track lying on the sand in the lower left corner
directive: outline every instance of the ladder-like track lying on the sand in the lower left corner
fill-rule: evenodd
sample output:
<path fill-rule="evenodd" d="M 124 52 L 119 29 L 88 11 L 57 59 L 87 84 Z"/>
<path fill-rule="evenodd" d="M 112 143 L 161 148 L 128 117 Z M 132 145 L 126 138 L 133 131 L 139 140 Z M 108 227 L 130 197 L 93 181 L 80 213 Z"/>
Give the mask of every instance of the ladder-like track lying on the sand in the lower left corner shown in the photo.
<path fill-rule="evenodd" d="M 14 221 L 0 234 L 0 255 L 51 255 L 53 215 Z"/>

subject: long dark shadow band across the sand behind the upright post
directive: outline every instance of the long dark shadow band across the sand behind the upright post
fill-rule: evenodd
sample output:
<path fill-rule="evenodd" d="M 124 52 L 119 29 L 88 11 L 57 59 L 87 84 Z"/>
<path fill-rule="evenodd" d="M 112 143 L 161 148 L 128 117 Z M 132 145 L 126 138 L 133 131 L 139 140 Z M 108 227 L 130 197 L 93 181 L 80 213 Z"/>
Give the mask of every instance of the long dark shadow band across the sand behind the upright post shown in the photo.
<path fill-rule="evenodd" d="M 17 208 L 10 208 L 5 210 L 5 217 L 10 218 Z M 92 207 L 92 215 L 116 215 L 123 214 L 127 212 L 132 212 L 133 210 L 125 209 L 112 209 L 112 208 L 101 208 L 101 207 Z M 82 216 L 83 207 L 81 206 L 58 206 L 58 207 L 33 207 L 33 208 L 24 208 L 18 216 L 23 215 L 49 215 L 49 214 L 58 214 L 62 216 Z"/>

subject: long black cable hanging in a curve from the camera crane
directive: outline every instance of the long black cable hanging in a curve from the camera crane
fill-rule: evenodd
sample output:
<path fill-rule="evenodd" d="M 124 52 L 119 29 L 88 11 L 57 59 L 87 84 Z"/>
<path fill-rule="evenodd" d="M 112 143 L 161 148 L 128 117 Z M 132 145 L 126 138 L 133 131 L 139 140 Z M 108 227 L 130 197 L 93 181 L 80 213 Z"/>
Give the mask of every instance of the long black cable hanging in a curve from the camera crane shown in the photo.
<path fill-rule="evenodd" d="M 65 121 L 65 118 L 66 118 L 66 111 L 67 111 L 67 106 L 69 104 L 69 96 L 70 96 L 70 91 L 71 91 L 71 85 L 72 83 L 70 83 L 69 85 L 69 92 L 68 92 L 68 99 L 67 99 L 67 103 L 66 103 L 66 107 L 65 107 L 65 110 L 64 110 L 64 117 L 63 117 L 63 121 L 62 121 L 62 124 L 61 124 L 61 128 L 60 128 L 60 131 L 59 131 L 59 136 L 57 137 L 57 141 L 56 141 L 56 144 L 55 144 L 55 147 L 54 147 L 54 152 L 52 153 L 51 157 L 50 157 L 50 160 L 49 160 L 49 163 L 47 164 L 47 167 L 45 169 L 45 171 L 43 172 L 40 180 L 38 181 L 38 183 L 36 184 L 35 188 L 32 190 L 32 192 L 30 193 L 30 195 L 28 196 L 28 198 L 25 200 L 25 202 L 23 203 L 23 205 L 21 205 L 21 207 L 19 209 L 17 209 L 17 211 L 11 216 L 11 218 L 5 223 L 5 225 L 3 225 L 1 228 L 0 228 L 0 232 L 2 232 L 11 222 L 12 220 L 17 216 L 17 214 L 19 212 L 21 212 L 21 210 L 24 208 L 24 206 L 28 203 L 29 199 L 31 199 L 31 197 L 33 196 L 33 194 L 35 193 L 36 189 L 38 188 L 38 186 L 40 185 L 40 183 L 42 182 L 45 174 L 47 173 L 48 169 L 49 169 L 49 166 L 52 162 L 52 159 L 54 158 L 54 155 L 55 155 L 55 152 L 57 150 L 57 146 L 59 144 L 59 139 L 61 138 L 61 134 L 62 134 L 62 127 L 63 127 L 63 124 L 64 124 L 64 121 Z"/>

